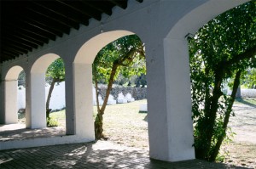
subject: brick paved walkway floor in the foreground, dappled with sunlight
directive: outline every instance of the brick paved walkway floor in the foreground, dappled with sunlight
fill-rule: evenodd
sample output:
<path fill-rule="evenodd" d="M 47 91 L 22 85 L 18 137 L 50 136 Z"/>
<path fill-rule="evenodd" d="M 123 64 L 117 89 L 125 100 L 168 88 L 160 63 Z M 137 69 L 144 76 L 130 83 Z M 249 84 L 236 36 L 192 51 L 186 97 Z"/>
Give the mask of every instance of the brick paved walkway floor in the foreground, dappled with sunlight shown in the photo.
<path fill-rule="evenodd" d="M 152 168 L 152 169 L 239 169 L 206 161 L 153 161 L 148 151 L 98 141 L 0 151 L 0 168 Z"/>

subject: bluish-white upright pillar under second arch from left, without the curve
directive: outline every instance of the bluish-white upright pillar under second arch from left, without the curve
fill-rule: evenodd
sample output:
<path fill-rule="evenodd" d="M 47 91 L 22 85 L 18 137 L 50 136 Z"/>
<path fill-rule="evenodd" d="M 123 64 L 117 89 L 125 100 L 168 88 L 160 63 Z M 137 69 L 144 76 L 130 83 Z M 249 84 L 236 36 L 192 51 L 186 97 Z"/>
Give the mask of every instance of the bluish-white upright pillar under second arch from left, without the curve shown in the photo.
<path fill-rule="evenodd" d="M 45 108 L 45 75 L 44 73 L 32 73 L 26 77 L 29 81 L 26 87 L 26 127 L 46 127 Z"/>

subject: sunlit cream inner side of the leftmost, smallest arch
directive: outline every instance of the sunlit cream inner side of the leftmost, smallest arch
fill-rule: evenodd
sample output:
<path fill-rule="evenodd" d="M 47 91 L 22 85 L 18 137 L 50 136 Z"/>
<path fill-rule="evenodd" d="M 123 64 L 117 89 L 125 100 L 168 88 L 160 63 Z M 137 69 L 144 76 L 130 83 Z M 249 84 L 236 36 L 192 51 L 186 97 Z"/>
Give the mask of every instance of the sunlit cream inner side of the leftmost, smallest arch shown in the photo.
<path fill-rule="evenodd" d="M 5 124 L 12 124 L 18 122 L 18 77 L 20 75 L 22 67 L 15 65 L 10 68 L 5 76 L 4 87 L 4 109 L 5 109 Z"/>

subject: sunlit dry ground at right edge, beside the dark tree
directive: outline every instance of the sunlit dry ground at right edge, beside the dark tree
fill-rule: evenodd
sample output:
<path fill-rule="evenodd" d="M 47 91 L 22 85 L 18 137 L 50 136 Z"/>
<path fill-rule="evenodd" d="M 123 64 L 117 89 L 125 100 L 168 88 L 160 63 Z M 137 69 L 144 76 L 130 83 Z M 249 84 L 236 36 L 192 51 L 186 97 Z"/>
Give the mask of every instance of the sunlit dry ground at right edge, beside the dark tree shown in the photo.
<path fill-rule="evenodd" d="M 229 126 L 236 132 L 233 141 L 222 147 L 224 163 L 256 169 L 256 106 L 234 104 Z"/>

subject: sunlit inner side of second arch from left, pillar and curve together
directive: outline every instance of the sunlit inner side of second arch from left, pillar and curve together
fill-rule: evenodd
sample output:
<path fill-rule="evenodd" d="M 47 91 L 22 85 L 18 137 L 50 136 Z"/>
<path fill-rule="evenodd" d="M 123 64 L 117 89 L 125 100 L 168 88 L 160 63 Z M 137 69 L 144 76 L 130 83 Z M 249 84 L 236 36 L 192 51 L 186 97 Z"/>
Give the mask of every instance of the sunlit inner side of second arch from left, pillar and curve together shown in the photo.
<path fill-rule="evenodd" d="M 45 72 L 58 58 L 56 54 L 45 54 L 32 65 L 26 89 L 26 128 L 46 127 Z"/>

